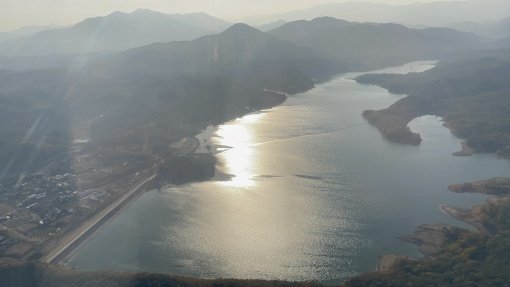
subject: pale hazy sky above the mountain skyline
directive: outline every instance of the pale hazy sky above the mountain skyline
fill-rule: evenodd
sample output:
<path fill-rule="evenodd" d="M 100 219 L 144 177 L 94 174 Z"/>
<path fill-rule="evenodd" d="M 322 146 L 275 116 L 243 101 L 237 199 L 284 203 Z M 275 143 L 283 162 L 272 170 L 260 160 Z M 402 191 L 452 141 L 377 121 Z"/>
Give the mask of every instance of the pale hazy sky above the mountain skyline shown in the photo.
<path fill-rule="evenodd" d="M 207 12 L 226 20 L 274 14 L 330 2 L 362 0 L 0 0 L 0 31 L 22 26 L 68 25 L 113 11 L 149 8 L 169 13 Z M 365 0 L 367 1 L 367 0 Z M 387 4 L 437 0 L 368 0 Z"/>

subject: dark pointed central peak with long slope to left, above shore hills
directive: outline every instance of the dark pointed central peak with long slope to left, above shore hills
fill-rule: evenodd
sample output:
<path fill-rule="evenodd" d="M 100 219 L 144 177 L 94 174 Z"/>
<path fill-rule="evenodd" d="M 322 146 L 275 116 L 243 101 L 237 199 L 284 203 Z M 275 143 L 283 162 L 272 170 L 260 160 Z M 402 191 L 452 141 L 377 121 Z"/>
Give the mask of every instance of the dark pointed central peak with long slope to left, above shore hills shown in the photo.
<path fill-rule="evenodd" d="M 89 67 L 94 73 L 171 77 L 179 74 L 239 76 L 255 67 L 292 67 L 309 76 L 324 74 L 335 62 L 313 48 L 297 46 L 261 32 L 246 24 L 235 24 L 226 31 L 193 41 L 155 43 L 99 58 Z M 266 87 L 269 88 L 269 87 Z"/>

